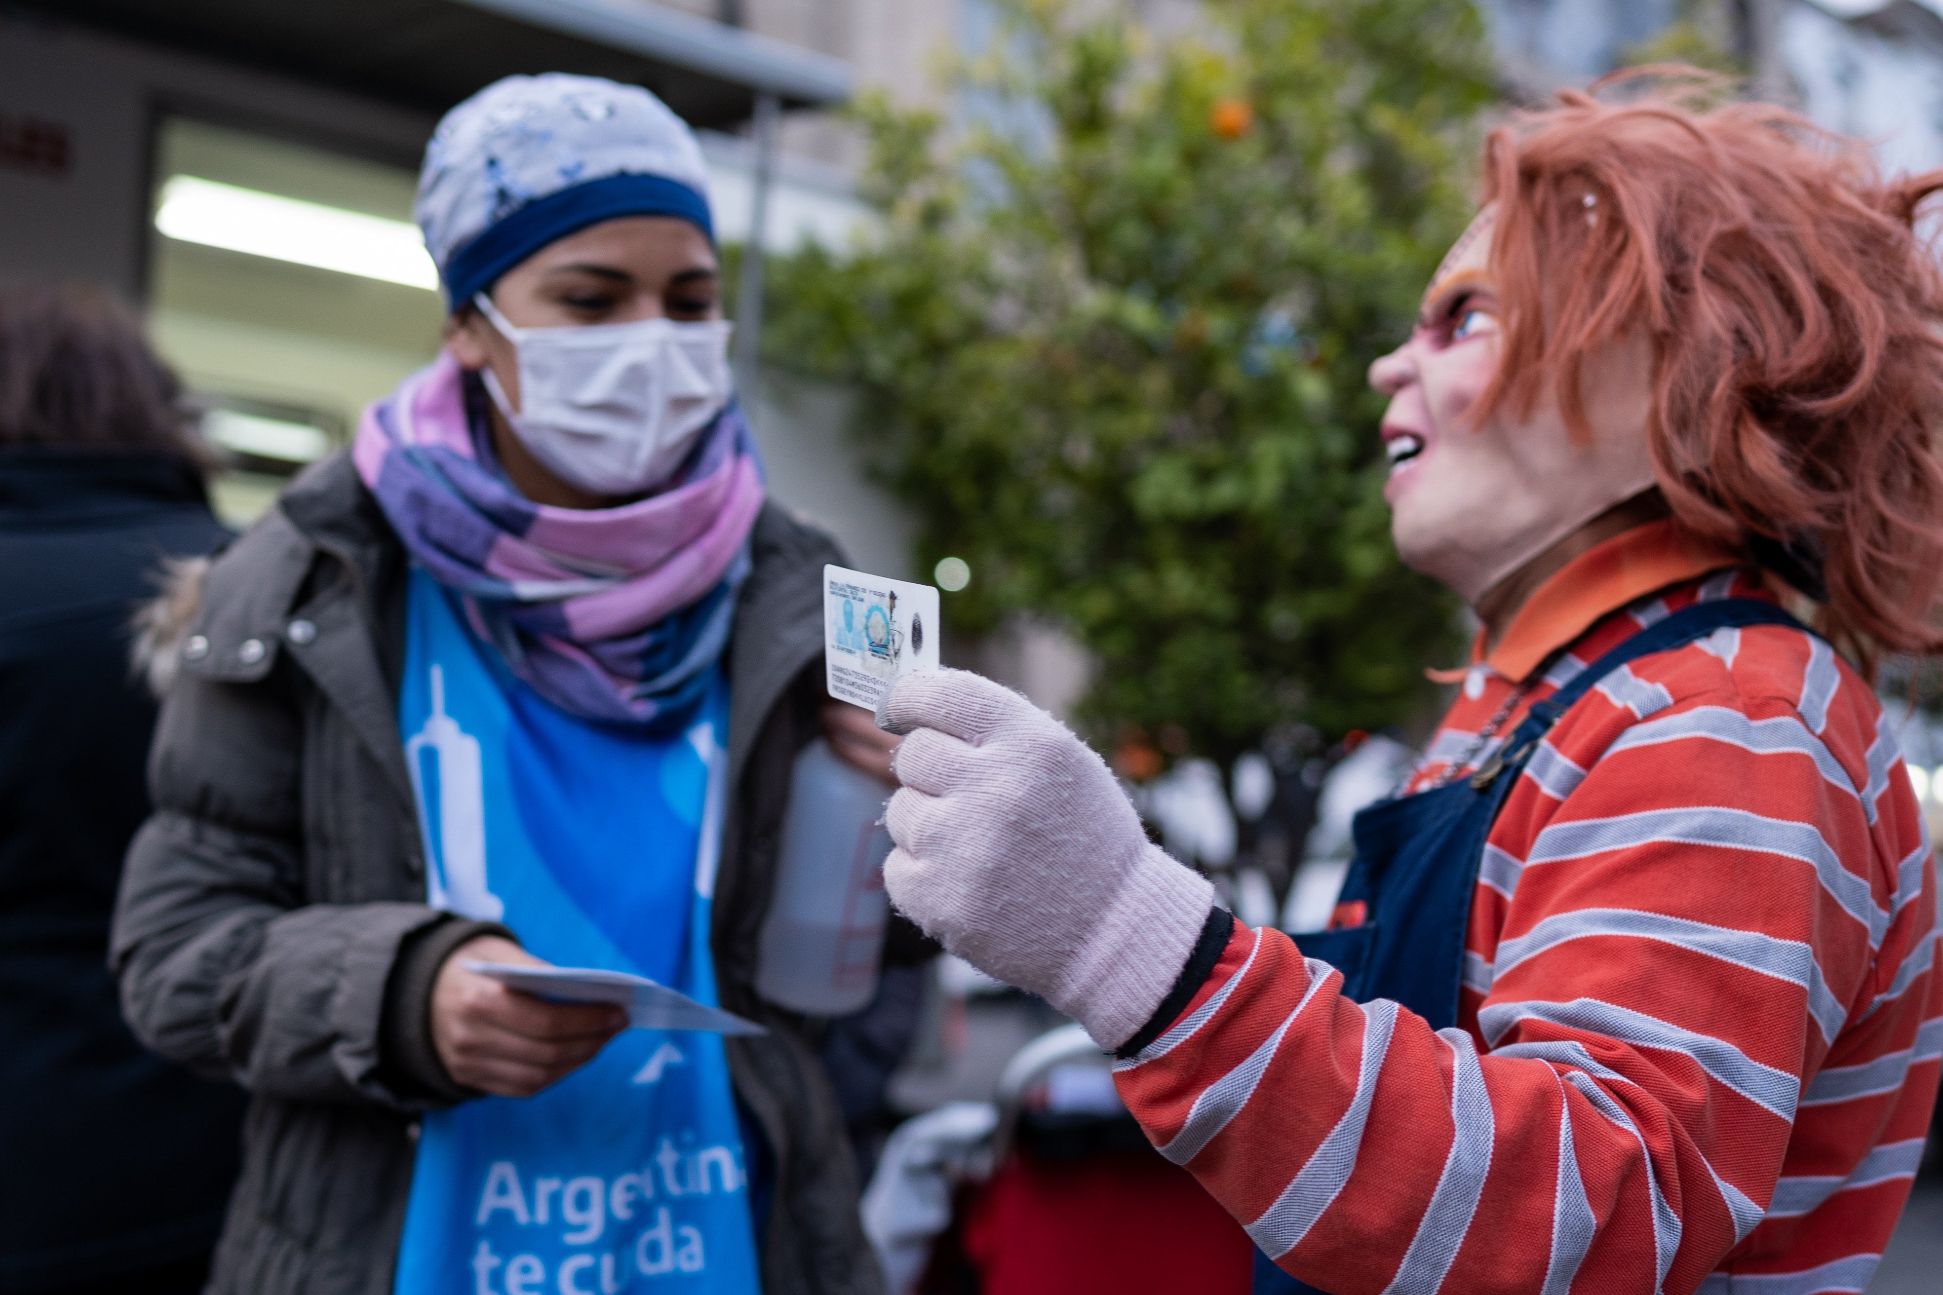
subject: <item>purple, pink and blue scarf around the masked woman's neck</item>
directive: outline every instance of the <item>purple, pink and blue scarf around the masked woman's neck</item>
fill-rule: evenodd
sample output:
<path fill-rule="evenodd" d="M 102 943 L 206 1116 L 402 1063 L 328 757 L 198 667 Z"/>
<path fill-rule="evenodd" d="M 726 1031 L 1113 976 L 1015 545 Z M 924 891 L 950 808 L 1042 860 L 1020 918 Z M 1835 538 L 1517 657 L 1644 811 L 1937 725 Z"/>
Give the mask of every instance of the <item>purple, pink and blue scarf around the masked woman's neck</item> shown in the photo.
<path fill-rule="evenodd" d="M 762 460 L 731 404 L 666 487 L 618 509 L 525 499 L 466 417 L 441 353 L 363 414 L 352 462 L 412 559 L 474 633 L 554 705 L 666 734 L 707 693 L 729 643 Z"/>

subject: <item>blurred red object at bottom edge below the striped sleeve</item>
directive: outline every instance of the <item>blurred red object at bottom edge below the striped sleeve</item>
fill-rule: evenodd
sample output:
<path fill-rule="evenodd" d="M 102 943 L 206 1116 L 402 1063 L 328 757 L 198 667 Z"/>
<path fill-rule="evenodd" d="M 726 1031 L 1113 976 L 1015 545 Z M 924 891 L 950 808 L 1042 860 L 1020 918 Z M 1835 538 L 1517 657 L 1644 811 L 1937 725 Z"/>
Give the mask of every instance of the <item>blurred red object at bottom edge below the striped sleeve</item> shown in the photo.
<path fill-rule="evenodd" d="M 1014 1153 L 972 1202 L 964 1254 L 983 1295 L 1247 1295 L 1255 1246 L 1152 1151 Z"/>

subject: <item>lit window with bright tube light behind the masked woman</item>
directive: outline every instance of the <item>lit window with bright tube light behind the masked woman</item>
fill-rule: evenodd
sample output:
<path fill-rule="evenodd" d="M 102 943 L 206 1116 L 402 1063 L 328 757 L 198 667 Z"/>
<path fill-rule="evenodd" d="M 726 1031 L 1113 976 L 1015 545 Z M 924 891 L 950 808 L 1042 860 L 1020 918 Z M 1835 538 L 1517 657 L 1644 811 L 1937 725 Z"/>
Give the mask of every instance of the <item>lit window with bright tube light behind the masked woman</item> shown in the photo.
<path fill-rule="evenodd" d="M 416 177 L 169 118 L 155 181 L 150 332 L 223 458 L 216 509 L 243 524 L 437 355 Z"/>

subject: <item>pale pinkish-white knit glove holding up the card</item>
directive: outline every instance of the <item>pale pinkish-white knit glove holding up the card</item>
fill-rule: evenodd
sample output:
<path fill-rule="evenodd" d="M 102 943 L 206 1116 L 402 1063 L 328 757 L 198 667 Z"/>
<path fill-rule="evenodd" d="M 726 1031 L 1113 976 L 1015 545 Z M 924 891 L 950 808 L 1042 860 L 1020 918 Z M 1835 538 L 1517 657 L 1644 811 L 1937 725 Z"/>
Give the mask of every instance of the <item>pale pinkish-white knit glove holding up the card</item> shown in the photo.
<path fill-rule="evenodd" d="M 880 722 L 909 732 L 886 815 L 892 903 L 1100 1046 L 1131 1039 L 1187 965 L 1214 887 L 1148 843 L 1092 747 L 991 680 L 903 676 Z"/>

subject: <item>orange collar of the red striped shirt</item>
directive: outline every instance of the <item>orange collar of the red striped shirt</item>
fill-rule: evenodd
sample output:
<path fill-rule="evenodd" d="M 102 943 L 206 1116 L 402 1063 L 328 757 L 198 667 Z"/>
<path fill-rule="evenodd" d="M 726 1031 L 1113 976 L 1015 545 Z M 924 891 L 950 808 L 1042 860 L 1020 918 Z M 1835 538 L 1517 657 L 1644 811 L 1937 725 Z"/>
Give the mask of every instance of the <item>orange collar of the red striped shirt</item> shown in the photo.
<path fill-rule="evenodd" d="M 1628 602 L 1741 561 L 1733 549 L 1700 540 L 1671 518 L 1634 526 L 1585 549 L 1545 581 L 1490 652 L 1479 629 L 1471 664 L 1484 662 L 1494 674 L 1523 681 L 1552 652 Z"/>

